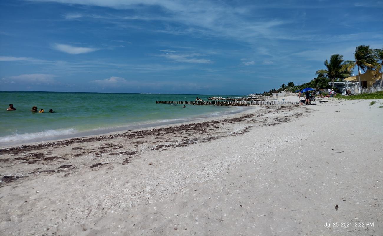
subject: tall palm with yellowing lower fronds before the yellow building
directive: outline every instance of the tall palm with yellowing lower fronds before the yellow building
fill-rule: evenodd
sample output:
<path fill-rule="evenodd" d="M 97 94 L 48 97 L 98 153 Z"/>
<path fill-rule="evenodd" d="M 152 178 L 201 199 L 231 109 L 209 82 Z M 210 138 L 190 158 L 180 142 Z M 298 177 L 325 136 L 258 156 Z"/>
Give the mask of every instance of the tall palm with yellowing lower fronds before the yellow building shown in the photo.
<path fill-rule="evenodd" d="M 358 66 L 359 91 L 362 84 L 360 83 L 360 69 L 366 72 L 367 69 L 373 69 L 377 66 L 377 57 L 373 54 L 374 50 L 370 46 L 360 45 L 355 48 L 355 61 L 345 61 L 344 68 L 351 71 L 355 66 Z"/>

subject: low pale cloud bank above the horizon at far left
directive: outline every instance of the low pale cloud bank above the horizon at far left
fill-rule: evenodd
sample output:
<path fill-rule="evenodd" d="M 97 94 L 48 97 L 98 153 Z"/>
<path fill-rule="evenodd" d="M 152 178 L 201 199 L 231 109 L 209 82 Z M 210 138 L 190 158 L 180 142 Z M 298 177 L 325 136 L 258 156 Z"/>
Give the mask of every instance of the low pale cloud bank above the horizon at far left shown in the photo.
<path fill-rule="evenodd" d="M 56 83 L 53 79 L 55 77 L 57 76 L 54 74 L 21 74 L 2 78 L 1 81 L 5 84 L 23 83 L 29 85 L 47 85 Z"/>

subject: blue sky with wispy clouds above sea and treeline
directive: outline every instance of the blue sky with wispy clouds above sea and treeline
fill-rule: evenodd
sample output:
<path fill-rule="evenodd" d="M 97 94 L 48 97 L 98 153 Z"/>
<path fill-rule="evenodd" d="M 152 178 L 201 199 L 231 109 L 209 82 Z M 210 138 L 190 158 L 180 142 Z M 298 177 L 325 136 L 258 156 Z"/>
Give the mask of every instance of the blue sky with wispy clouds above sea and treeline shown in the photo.
<path fill-rule="evenodd" d="M 383 0 L 2 0 L 0 90 L 245 95 L 383 48 Z"/>

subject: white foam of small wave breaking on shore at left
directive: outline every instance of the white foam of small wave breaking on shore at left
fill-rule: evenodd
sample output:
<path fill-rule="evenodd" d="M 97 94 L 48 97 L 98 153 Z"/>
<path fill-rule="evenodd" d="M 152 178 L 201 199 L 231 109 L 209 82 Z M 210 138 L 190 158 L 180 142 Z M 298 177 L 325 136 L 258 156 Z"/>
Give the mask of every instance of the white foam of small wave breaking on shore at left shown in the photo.
<path fill-rule="evenodd" d="M 13 135 L 8 135 L 4 137 L 0 137 L 0 143 L 6 142 L 20 142 L 20 141 L 33 141 L 41 138 L 49 138 L 60 135 L 74 134 L 76 133 L 76 129 L 61 129 L 61 130 L 45 130 L 37 133 L 26 133 L 26 134 L 17 134 L 17 132 Z"/>

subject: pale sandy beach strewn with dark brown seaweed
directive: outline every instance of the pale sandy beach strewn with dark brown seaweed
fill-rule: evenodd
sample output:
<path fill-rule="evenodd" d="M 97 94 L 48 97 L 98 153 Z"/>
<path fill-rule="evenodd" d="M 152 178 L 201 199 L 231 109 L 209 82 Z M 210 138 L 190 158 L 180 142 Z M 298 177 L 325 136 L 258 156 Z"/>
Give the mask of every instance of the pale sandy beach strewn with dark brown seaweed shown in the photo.
<path fill-rule="evenodd" d="M 375 101 L 2 149 L 0 235 L 382 235 Z"/>

